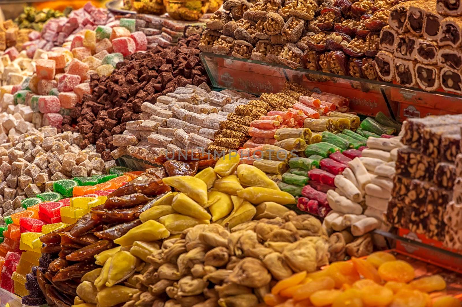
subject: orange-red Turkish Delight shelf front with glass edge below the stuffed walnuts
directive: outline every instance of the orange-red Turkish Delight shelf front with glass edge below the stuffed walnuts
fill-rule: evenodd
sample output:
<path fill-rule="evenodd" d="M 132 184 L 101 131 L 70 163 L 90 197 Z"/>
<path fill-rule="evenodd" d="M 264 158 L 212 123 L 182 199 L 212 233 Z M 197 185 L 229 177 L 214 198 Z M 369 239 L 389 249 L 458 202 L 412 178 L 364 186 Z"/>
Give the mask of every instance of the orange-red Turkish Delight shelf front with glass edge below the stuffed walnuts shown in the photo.
<path fill-rule="evenodd" d="M 364 115 L 382 111 L 403 120 L 446 113 L 462 113 L 462 96 L 446 92 L 426 92 L 394 83 L 340 76 L 285 65 L 200 53 L 214 87 L 243 90 L 253 94 L 275 92 L 290 80 L 315 92 L 330 92 L 350 98 L 350 107 Z"/>

